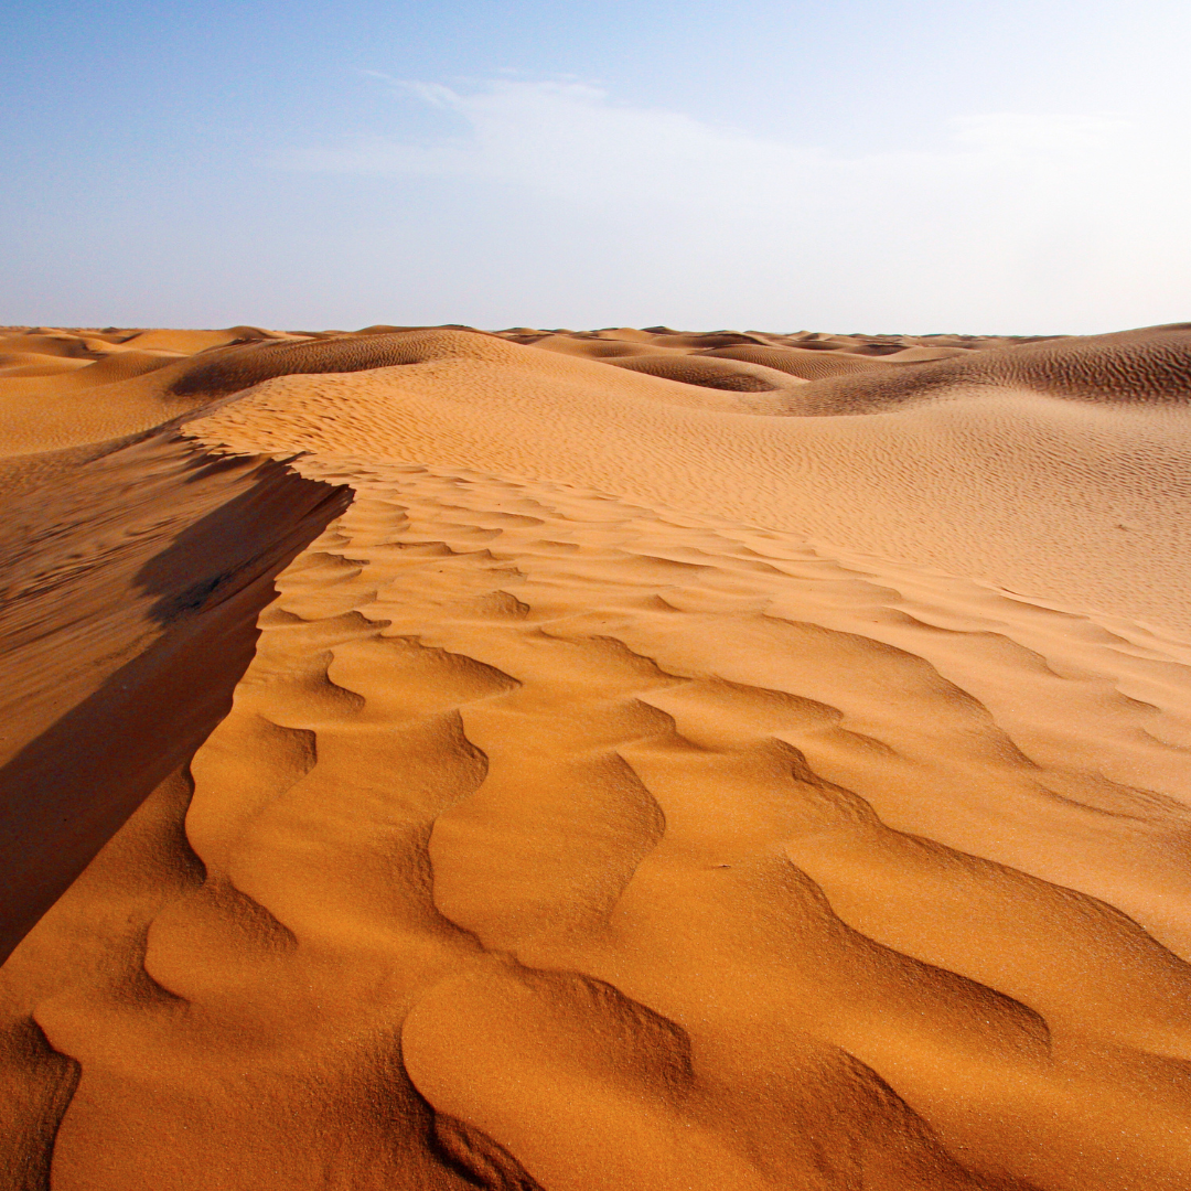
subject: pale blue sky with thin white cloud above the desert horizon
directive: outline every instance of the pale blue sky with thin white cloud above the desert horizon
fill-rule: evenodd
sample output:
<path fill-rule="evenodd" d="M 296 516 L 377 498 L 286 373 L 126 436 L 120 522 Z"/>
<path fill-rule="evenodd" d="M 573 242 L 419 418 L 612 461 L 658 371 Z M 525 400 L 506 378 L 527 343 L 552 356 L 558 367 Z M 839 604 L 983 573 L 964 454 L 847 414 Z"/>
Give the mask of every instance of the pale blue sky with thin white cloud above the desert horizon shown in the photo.
<path fill-rule="evenodd" d="M 1191 319 L 1185 0 L 0 8 L 0 324 Z"/>

